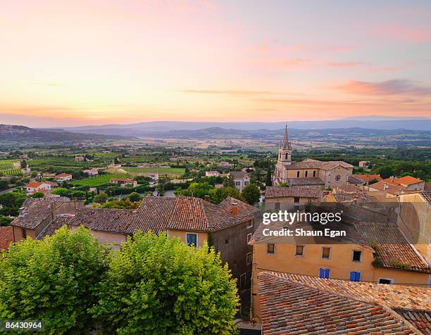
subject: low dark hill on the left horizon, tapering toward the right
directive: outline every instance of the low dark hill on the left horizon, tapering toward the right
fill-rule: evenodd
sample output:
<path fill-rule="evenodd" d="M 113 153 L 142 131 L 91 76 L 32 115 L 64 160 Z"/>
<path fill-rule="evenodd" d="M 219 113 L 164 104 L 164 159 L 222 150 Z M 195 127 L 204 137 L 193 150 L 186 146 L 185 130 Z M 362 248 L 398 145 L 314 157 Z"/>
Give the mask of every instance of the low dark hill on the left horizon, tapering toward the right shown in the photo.
<path fill-rule="evenodd" d="M 33 129 L 21 125 L 0 125 L 0 141 L 8 142 L 77 143 L 81 141 L 104 141 L 125 138 L 118 135 L 65 132 L 63 129 L 49 131 L 47 129 Z"/>

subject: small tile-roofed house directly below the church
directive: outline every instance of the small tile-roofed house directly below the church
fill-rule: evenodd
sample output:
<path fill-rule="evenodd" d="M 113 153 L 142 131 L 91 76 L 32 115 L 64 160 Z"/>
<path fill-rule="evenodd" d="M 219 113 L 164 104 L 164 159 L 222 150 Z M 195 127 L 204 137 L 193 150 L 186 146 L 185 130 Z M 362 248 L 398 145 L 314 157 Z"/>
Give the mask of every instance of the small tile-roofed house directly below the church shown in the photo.
<path fill-rule="evenodd" d="M 266 210 L 289 210 L 301 204 L 321 201 L 323 191 L 304 187 L 266 187 Z"/>

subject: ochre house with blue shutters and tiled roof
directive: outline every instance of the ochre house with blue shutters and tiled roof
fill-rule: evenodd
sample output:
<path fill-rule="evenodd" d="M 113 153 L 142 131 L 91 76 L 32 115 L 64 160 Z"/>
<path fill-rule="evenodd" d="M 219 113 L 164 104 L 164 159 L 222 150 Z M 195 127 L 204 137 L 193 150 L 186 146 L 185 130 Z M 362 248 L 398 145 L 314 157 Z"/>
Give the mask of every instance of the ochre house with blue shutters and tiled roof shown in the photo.
<path fill-rule="evenodd" d="M 271 236 L 264 230 L 284 228 L 285 222 L 260 225 L 250 241 L 253 246 L 251 317 L 261 315 L 258 275 L 263 271 L 378 284 L 427 286 L 429 283 L 430 266 L 395 223 L 342 223 L 339 229 L 347 234 L 338 240 L 325 236 Z M 289 228 L 316 232 L 321 225 L 294 222 Z"/>

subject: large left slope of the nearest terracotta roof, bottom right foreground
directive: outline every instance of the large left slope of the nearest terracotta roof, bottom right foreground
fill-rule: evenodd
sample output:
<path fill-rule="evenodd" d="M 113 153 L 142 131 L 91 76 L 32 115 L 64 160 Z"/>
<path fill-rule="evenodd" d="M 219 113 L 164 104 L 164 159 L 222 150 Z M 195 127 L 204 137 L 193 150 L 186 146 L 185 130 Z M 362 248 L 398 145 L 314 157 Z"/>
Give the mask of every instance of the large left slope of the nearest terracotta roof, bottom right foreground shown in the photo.
<path fill-rule="evenodd" d="M 263 334 L 414 334 L 410 324 L 382 305 L 273 272 L 258 274 L 258 291 Z"/>

